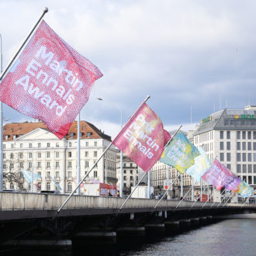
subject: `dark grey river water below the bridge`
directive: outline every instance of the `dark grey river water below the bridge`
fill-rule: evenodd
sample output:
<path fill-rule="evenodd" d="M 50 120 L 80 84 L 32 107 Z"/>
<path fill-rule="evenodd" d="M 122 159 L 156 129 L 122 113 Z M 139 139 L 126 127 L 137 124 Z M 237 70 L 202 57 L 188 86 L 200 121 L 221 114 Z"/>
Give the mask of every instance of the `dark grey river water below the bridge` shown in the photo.
<path fill-rule="evenodd" d="M 10 253 L 10 252 L 9 252 Z M 26 250 L 15 255 L 256 255 L 256 219 L 223 220 L 182 234 L 150 236 L 117 244 L 85 244 L 73 251 Z M 1 253 L 5 255 L 5 253 Z M 9 255 L 9 254 L 6 254 Z"/>

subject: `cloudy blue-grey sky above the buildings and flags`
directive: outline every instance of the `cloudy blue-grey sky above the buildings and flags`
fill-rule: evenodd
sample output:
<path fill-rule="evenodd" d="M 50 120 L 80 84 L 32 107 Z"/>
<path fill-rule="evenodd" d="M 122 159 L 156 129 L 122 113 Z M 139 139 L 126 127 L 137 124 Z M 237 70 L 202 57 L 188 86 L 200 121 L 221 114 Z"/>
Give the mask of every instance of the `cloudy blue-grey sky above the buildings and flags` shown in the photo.
<path fill-rule="evenodd" d="M 44 7 L 47 24 L 102 71 L 81 119 L 112 138 L 147 95 L 165 130 L 256 105 L 254 0 L 0 0 L 3 68 Z M 33 120 L 3 112 L 6 122 Z"/>

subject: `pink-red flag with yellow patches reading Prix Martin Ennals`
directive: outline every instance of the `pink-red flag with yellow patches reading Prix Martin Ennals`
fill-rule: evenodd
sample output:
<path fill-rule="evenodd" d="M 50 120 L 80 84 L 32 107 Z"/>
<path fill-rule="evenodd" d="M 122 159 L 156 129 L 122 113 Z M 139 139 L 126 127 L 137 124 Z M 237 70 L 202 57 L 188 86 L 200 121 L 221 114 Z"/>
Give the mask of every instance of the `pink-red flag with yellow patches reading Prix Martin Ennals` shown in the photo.
<path fill-rule="evenodd" d="M 161 157 L 171 135 L 146 103 L 127 124 L 112 143 L 140 168 L 149 171 Z"/>

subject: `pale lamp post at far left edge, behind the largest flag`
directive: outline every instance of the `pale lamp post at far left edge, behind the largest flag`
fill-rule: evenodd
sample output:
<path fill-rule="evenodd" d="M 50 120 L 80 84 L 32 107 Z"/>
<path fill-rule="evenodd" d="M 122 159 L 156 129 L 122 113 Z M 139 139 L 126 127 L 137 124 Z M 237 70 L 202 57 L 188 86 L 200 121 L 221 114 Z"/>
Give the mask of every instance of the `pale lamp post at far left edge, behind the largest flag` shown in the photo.
<path fill-rule="evenodd" d="M 0 74 L 2 74 L 2 35 L 0 33 Z M 1 82 L 2 79 L 0 79 Z M 2 183 L 4 179 L 4 170 L 3 170 L 3 115 L 2 115 L 2 102 L 0 102 L 0 191 L 2 191 Z"/>

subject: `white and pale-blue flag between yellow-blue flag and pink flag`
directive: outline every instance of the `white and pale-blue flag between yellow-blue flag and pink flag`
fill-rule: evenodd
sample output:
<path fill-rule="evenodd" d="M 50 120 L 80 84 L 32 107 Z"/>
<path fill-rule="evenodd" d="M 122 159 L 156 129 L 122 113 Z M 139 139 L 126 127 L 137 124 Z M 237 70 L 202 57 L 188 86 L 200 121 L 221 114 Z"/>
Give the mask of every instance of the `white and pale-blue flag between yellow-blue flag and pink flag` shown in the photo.
<path fill-rule="evenodd" d="M 202 175 L 212 166 L 209 157 L 202 147 L 199 147 L 199 153 L 200 155 L 195 157 L 195 164 L 185 171 L 192 178 L 195 178 L 196 182 L 200 182 Z"/>

